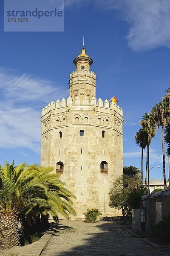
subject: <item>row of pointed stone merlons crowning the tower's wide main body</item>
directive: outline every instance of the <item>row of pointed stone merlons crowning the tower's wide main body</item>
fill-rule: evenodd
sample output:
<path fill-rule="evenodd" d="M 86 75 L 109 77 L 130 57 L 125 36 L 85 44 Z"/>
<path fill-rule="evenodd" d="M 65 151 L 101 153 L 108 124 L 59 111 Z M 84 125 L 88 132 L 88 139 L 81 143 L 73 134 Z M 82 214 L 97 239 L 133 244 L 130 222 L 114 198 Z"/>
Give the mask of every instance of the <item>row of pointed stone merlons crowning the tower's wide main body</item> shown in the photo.
<path fill-rule="evenodd" d="M 108 109 L 112 109 L 114 110 L 116 113 L 118 113 L 121 117 L 123 117 L 123 110 L 122 108 L 120 108 L 119 106 L 117 106 L 116 104 L 114 104 L 113 102 L 109 103 L 109 101 L 106 99 L 105 102 L 102 101 L 101 98 L 99 98 L 98 100 L 96 100 L 95 97 L 91 98 L 91 101 L 89 103 L 88 98 L 84 97 L 83 99 L 83 104 L 80 104 L 80 99 L 79 96 L 77 96 L 77 98 L 75 99 L 75 103 L 73 103 L 73 99 L 71 98 L 71 96 L 68 97 L 67 101 L 65 100 L 65 98 L 62 99 L 62 101 L 60 102 L 59 99 L 57 100 L 56 103 L 54 103 L 54 101 L 52 101 L 50 104 L 48 104 L 48 106 L 45 106 L 45 108 L 42 108 L 42 116 L 44 116 L 45 114 L 49 113 L 51 110 L 55 110 L 55 109 L 61 109 L 64 107 L 69 107 L 69 106 L 75 106 L 76 107 L 80 107 L 82 108 L 83 106 L 97 106 L 99 108 L 108 108 Z M 95 111 L 95 110 L 94 110 Z"/>

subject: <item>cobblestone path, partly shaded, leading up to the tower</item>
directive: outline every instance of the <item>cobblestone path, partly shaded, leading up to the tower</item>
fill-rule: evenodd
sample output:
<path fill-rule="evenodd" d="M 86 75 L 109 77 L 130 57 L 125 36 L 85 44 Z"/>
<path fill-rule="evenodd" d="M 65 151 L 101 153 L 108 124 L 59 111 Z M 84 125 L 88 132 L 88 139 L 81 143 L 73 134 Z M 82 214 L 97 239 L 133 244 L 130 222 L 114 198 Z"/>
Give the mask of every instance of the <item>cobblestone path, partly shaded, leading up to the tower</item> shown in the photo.
<path fill-rule="evenodd" d="M 62 221 L 41 256 L 170 256 L 109 221 Z"/>

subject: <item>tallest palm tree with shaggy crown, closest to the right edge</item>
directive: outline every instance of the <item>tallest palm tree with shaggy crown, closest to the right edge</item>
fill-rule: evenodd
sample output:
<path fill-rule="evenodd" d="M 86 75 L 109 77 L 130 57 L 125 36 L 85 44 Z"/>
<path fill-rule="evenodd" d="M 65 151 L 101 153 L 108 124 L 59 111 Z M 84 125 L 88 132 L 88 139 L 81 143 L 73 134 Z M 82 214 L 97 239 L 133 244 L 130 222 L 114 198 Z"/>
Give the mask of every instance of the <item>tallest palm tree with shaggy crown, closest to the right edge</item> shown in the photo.
<path fill-rule="evenodd" d="M 165 99 L 166 97 L 164 97 Z M 166 189 L 166 173 L 165 173 L 165 152 L 164 152 L 164 126 L 170 121 L 170 112 L 168 111 L 170 103 L 162 101 L 156 104 L 152 109 L 153 118 L 161 126 L 162 134 L 162 157 L 163 157 L 163 175 L 164 175 L 164 189 Z"/>

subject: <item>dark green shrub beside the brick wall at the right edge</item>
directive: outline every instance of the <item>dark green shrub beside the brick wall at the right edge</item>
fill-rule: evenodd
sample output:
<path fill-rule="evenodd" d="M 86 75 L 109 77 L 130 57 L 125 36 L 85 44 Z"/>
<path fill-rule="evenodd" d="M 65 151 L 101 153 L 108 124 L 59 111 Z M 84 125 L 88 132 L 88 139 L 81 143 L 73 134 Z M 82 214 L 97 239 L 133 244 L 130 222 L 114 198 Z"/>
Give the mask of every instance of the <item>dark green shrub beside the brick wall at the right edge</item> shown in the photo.
<path fill-rule="evenodd" d="M 163 243 L 170 243 L 170 214 L 164 216 L 163 220 L 153 227 L 153 236 Z"/>

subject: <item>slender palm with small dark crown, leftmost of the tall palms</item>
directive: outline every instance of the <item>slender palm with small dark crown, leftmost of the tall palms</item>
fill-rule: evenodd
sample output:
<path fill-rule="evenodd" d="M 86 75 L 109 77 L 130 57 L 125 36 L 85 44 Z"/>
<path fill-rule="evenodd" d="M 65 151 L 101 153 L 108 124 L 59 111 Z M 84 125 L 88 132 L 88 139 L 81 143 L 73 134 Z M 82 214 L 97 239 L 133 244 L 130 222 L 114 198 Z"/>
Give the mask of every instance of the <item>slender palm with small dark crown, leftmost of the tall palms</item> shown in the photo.
<path fill-rule="evenodd" d="M 141 153 L 141 186 L 143 189 L 143 150 L 147 146 L 147 132 L 143 129 L 140 129 L 138 132 L 136 132 L 135 135 L 136 144 L 139 145 L 140 148 L 142 148 Z"/>

